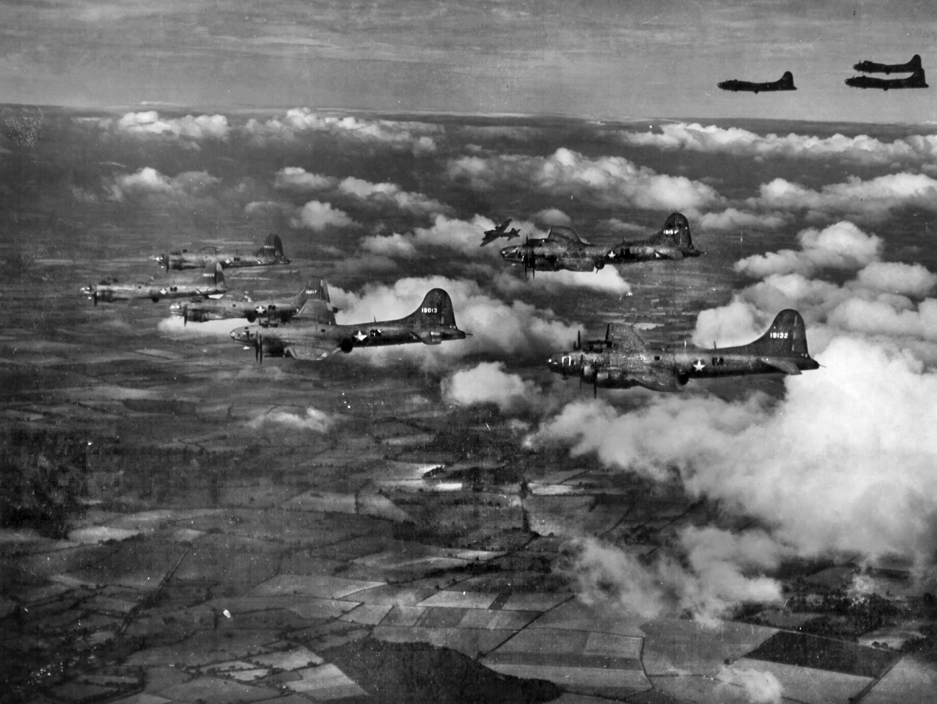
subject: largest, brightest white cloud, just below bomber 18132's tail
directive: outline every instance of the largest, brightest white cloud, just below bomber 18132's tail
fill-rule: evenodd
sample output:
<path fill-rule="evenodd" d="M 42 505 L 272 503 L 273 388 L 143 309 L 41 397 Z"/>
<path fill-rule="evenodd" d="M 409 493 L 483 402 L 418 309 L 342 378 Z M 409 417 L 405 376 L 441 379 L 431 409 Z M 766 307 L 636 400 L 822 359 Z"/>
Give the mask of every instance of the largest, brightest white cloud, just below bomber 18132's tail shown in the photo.
<path fill-rule="evenodd" d="M 761 394 L 658 396 L 619 414 L 602 400 L 578 401 L 530 442 L 568 444 L 574 455 L 656 478 L 676 470 L 693 495 L 759 518 L 776 554 L 932 559 L 937 375 L 894 346 L 847 337 L 821 361 L 825 368 L 786 378 L 777 403 Z"/>

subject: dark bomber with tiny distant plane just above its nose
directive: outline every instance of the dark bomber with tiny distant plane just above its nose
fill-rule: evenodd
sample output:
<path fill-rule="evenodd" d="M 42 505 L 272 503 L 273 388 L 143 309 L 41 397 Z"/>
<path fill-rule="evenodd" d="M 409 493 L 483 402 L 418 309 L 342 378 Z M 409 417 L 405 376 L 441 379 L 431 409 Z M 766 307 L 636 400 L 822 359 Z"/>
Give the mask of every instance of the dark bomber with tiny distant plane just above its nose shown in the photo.
<path fill-rule="evenodd" d="M 602 269 L 606 263 L 683 259 L 700 254 L 692 245 L 690 223 L 680 213 L 667 217 L 660 232 L 643 240 L 622 240 L 617 247 L 590 245 L 573 228 L 554 226 L 546 237 L 501 249 L 501 257 L 506 262 L 521 264 L 525 275 L 528 270 L 592 271 Z"/>

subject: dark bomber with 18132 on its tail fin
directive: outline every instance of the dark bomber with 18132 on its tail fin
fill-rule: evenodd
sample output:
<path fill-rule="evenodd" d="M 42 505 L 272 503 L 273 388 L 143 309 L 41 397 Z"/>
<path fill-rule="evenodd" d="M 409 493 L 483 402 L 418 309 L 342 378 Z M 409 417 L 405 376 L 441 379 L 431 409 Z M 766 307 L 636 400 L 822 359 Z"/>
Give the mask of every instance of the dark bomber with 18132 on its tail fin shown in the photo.
<path fill-rule="evenodd" d="M 781 310 L 767 332 L 747 345 L 653 349 L 632 325 L 611 323 L 603 340 L 577 342 L 573 350 L 547 360 L 551 371 L 578 376 L 594 389 L 643 386 L 652 391 L 678 391 L 693 379 L 749 374 L 800 374 L 820 365 L 807 351 L 804 319 L 796 310 Z"/>

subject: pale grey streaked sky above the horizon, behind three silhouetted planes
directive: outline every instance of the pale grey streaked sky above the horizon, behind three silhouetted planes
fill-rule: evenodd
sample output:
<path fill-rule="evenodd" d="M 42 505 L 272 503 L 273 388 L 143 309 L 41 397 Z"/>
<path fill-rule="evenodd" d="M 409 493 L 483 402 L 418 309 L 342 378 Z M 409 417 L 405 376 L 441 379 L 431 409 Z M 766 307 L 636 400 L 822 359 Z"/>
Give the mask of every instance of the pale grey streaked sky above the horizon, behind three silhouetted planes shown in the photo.
<path fill-rule="evenodd" d="M 937 119 L 923 0 L 7 0 L 0 33 L 7 103 Z M 843 83 L 860 60 L 914 53 L 935 87 Z M 784 70 L 796 93 L 716 88 Z"/>

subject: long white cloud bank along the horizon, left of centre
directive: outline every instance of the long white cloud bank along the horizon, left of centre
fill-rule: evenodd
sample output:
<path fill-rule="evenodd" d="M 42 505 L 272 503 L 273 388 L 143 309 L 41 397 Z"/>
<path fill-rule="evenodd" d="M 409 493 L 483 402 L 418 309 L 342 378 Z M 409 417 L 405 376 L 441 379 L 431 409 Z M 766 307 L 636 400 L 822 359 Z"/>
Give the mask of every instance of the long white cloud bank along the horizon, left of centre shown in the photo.
<path fill-rule="evenodd" d="M 367 120 L 360 117 L 320 115 L 308 108 L 294 108 L 283 117 L 266 121 L 248 120 L 244 132 L 256 144 L 268 141 L 293 141 L 304 134 L 323 134 L 367 147 L 407 151 L 414 156 L 433 154 L 436 140 L 445 130 L 424 122 Z"/>

